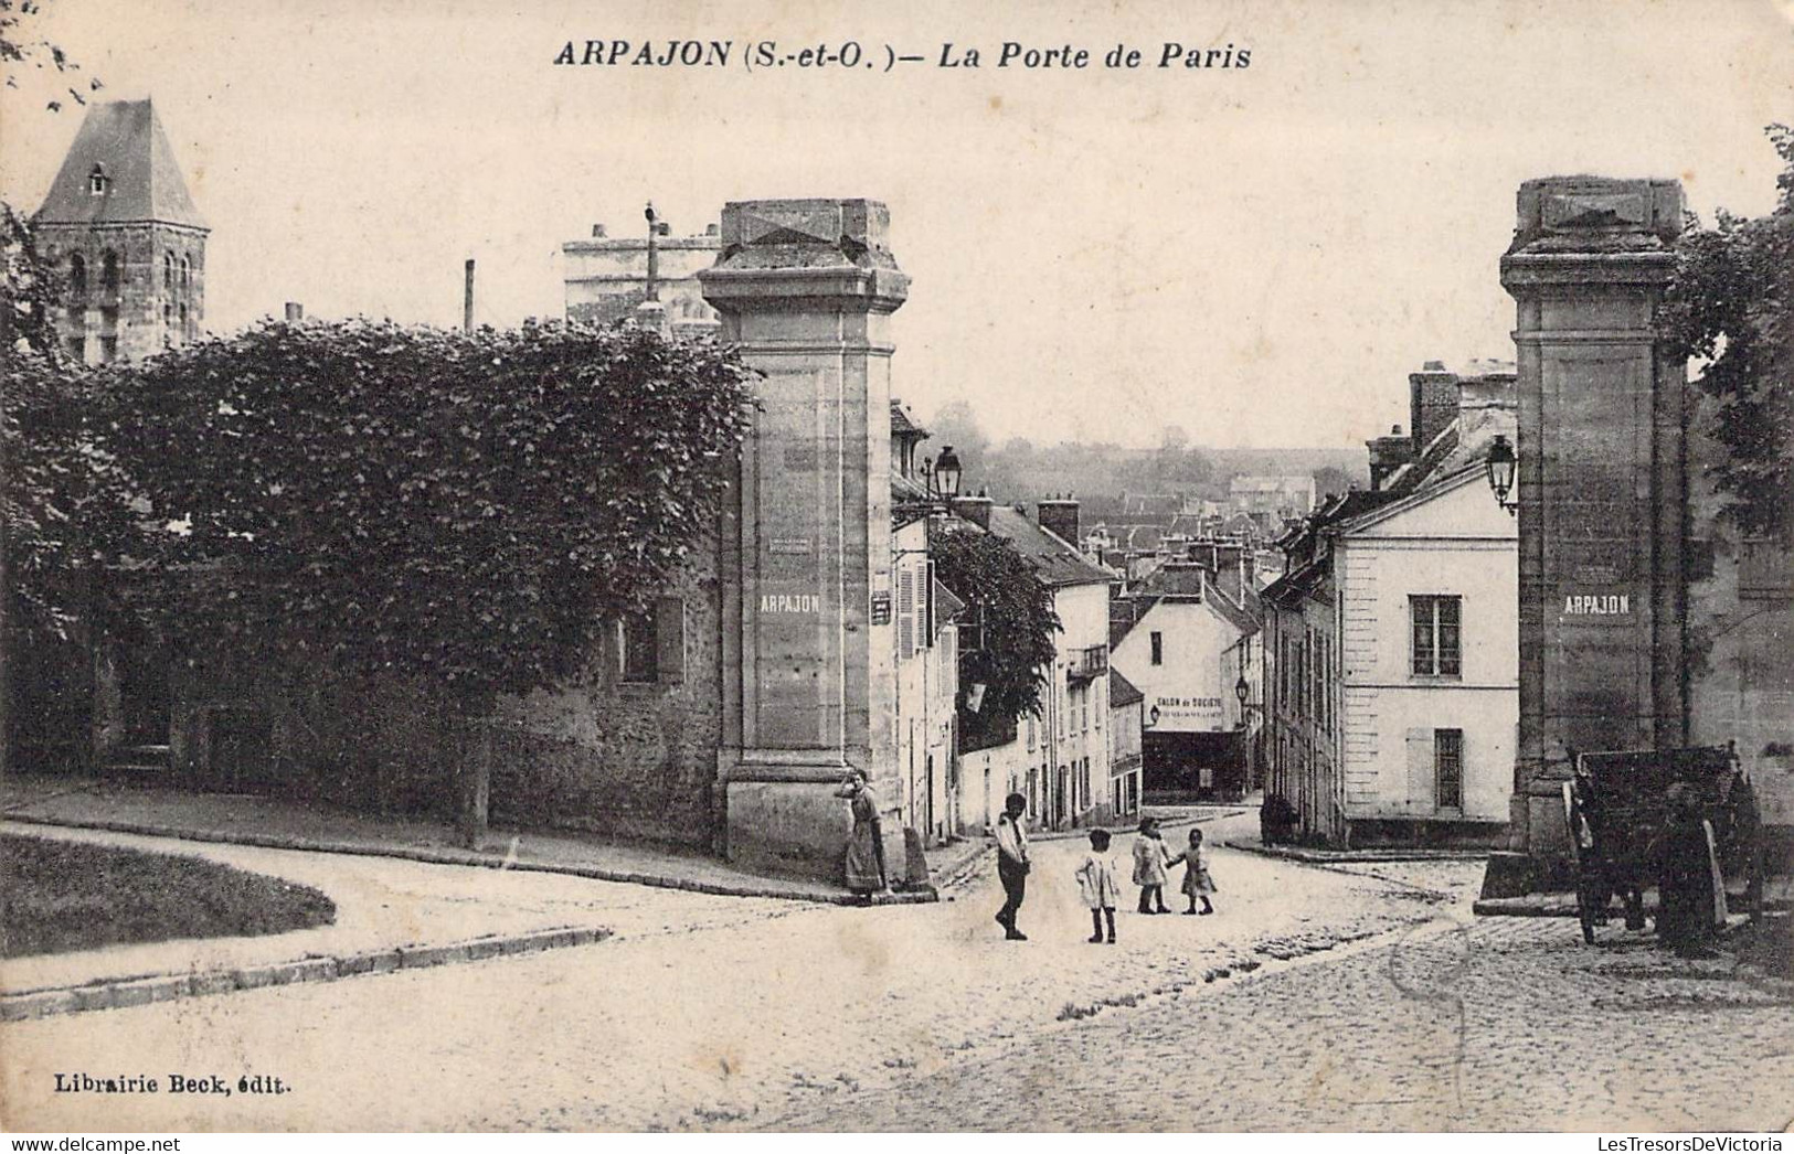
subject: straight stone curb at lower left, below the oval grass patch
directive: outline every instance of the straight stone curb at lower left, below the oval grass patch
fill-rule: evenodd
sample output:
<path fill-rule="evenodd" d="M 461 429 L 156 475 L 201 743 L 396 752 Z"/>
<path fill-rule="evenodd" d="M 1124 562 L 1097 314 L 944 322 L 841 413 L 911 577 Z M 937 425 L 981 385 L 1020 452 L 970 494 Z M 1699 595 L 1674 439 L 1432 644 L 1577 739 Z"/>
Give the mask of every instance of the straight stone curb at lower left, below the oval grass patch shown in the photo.
<path fill-rule="evenodd" d="M 25 1021 L 30 1018 L 50 1018 L 56 1014 L 77 1014 L 99 1009 L 124 1009 L 129 1005 L 174 1002 L 176 998 L 206 998 L 212 995 L 235 993 L 239 989 L 266 989 L 269 986 L 294 986 L 300 982 L 334 982 L 337 978 L 393 973 L 396 969 L 420 969 L 425 966 L 475 962 L 492 957 L 540 953 L 544 950 L 562 950 L 567 946 L 590 946 L 605 941 L 606 937 L 610 937 L 610 930 L 596 926 L 563 926 L 558 930 L 535 930 L 531 934 L 513 934 L 506 937 L 481 937 L 445 946 L 400 946 L 396 950 L 371 950 L 343 957 L 307 957 L 291 962 L 274 962 L 269 966 L 248 966 L 242 969 L 213 969 L 208 973 L 95 982 L 91 986 L 77 986 L 72 989 L 32 989 L 16 995 L 0 995 L 0 1021 Z"/>

